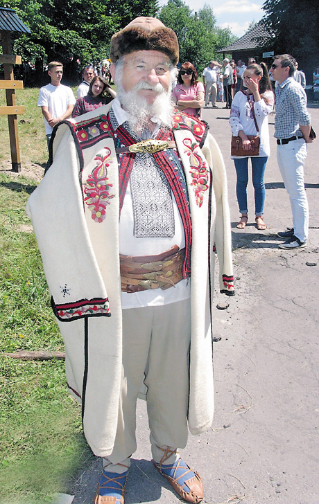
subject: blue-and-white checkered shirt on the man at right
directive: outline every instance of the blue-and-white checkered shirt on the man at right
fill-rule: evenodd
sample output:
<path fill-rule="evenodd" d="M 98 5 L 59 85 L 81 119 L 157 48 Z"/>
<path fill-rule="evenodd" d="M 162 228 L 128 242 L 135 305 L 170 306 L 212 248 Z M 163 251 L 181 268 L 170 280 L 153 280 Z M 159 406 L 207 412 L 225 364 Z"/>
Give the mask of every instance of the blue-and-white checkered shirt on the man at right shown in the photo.
<path fill-rule="evenodd" d="M 288 77 L 275 89 L 275 137 L 302 136 L 300 125 L 310 124 L 307 112 L 307 95 L 293 77 Z"/>

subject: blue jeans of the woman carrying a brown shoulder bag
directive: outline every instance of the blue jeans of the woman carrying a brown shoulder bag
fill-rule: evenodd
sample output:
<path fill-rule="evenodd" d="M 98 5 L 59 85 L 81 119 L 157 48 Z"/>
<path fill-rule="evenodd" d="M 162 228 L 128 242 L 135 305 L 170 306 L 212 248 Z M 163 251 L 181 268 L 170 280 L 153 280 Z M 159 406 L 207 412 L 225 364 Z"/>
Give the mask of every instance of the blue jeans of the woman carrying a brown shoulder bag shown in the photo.
<path fill-rule="evenodd" d="M 263 215 L 265 203 L 264 174 L 268 157 L 251 157 L 234 159 L 237 183 L 236 195 L 240 213 L 248 213 L 247 184 L 248 184 L 248 159 L 252 161 L 252 185 L 255 189 L 255 215 Z"/>

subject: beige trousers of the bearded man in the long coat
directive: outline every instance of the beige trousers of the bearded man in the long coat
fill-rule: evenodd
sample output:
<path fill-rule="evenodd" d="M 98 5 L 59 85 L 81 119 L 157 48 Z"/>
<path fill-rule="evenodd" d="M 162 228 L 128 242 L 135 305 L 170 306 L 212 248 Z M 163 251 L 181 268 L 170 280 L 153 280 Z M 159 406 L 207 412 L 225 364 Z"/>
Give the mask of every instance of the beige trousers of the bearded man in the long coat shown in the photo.
<path fill-rule="evenodd" d="M 172 287 L 173 288 L 173 287 Z M 107 471 L 122 473 L 135 452 L 137 396 L 146 402 L 153 459 L 167 447 L 187 444 L 189 401 L 190 300 L 164 306 L 123 309 L 123 367 L 117 435 Z M 161 447 L 162 450 L 158 449 Z M 172 463 L 173 455 L 166 463 Z"/>

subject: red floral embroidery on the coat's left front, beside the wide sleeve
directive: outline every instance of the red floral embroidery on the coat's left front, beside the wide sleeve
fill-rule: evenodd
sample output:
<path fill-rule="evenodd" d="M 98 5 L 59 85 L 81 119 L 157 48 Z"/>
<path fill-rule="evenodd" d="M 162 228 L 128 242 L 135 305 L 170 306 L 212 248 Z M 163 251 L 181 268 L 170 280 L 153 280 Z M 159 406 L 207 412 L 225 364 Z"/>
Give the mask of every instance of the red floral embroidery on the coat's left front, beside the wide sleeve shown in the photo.
<path fill-rule="evenodd" d="M 110 194 L 112 183 L 108 182 L 107 177 L 107 168 L 110 166 L 110 163 L 107 163 L 107 158 L 111 151 L 108 147 L 105 147 L 105 150 L 105 156 L 97 154 L 94 158 L 97 166 L 87 178 L 84 188 L 86 196 L 84 201 L 91 210 L 92 219 L 95 222 L 102 222 L 105 219 L 105 209 L 107 205 L 110 205 L 110 199 L 115 196 Z"/>

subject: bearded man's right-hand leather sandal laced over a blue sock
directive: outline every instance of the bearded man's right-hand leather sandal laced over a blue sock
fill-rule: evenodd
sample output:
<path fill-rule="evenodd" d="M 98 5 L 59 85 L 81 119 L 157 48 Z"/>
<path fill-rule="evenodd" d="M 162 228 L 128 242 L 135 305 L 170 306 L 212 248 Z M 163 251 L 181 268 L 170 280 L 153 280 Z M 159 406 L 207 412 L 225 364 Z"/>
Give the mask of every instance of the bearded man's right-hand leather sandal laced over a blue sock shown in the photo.
<path fill-rule="evenodd" d="M 184 501 L 192 504 L 200 503 L 204 498 L 204 488 L 200 475 L 193 471 L 181 457 L 175 460 L 173 464 L 163 464 L 173 453 L 176 453 L 176 450 L 166 449 L 161 461 L 157 463 L 153 460 L 153 464 Z"/>

